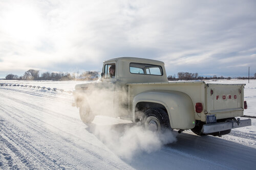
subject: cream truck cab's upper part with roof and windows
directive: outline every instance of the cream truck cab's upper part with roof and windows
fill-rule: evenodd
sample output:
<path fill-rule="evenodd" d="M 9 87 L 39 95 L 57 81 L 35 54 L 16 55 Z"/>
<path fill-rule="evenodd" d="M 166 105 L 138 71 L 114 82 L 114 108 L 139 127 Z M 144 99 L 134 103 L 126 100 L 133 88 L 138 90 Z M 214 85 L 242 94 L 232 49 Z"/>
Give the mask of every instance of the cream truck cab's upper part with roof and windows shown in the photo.
<path fill-rule="evenodd" d="M 109 75 L 110 67 L 114 65 L 115 78 Z M 157 60 L 120 57 L 103 62 L 101 81 L 119 81 L 127 83 L 168 82 L 164 63 Z"/>

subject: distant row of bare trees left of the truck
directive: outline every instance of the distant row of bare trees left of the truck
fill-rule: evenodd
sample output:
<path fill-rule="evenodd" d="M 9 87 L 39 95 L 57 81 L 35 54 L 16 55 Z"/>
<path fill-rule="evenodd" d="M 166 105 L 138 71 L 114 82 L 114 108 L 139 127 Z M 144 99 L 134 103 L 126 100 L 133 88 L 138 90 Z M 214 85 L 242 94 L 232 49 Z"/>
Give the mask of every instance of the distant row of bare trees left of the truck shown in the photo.
<path fill-rule="evenodd" d="M 29 69 L 23 76 L 9 74 L 5 77 L 6 80 L 53 80 L 53 81 L 67 81 L 67 80 L 94 80 L 99 75 L 98 71 L 85 71 L 82 74 L 77 72 L 62 73 L 62 72 L 43 72 L 39 74 L 39 70 Z"/>

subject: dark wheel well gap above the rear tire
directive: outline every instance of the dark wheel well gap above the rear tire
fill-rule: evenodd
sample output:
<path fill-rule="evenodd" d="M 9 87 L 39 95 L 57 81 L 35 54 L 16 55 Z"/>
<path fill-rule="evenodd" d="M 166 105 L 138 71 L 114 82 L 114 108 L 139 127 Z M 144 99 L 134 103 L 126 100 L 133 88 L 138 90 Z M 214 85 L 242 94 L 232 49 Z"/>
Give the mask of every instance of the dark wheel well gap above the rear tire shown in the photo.
<path fill-rule="evenodd" d="M 141 118 L 141 114 L 143 114 L 147 109 L 149 108 L 161 108 L 167 113 L 167 109 L 164 107 L 164 105 L 154 102 L 139 102 L 136 105 L 135 109 L 135 120 L 136 122 L 138 119 Z"/>

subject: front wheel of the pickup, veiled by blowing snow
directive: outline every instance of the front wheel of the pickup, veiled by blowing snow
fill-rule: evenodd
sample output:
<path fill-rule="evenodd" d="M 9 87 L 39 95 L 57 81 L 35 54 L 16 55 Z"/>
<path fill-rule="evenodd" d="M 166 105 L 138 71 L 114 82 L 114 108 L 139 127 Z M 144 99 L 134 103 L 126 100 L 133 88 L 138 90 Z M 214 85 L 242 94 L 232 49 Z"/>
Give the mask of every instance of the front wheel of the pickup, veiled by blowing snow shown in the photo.
<path fill-rule="evenodd" d="M 79 107 L 79 114 L 80 114 L 80 118 L 84 124 L 93 122 L 94 117 L 95 117 L 95 115 L 92 114 L 92 112 L 91 112 L 90 106 L 86 103 L 83 103 Z"/>

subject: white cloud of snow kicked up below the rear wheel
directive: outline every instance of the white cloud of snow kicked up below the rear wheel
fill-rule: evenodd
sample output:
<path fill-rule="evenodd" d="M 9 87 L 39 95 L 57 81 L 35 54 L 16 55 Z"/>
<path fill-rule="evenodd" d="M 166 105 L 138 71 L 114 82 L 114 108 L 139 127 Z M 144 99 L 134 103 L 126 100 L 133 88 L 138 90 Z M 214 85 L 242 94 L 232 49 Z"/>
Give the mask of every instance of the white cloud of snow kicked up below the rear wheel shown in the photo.
<path fill-rule="evenodd" d="M 137 125 L 91 126 L 91 131 L 111 151 L 128 161 L 143 153 L 156 152 L 164 144 L 176 141 L 172 131 L 157 133 Z"/>

